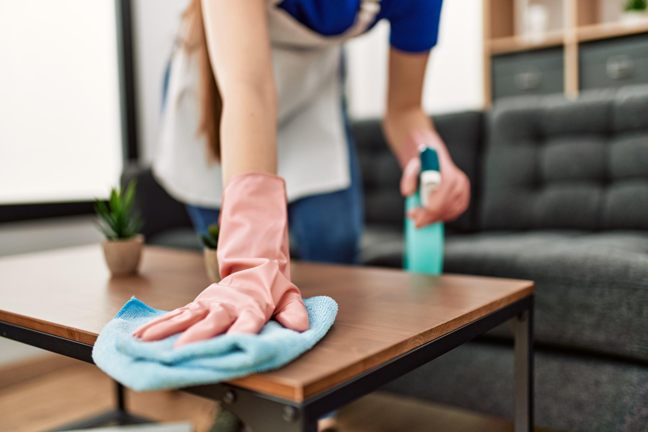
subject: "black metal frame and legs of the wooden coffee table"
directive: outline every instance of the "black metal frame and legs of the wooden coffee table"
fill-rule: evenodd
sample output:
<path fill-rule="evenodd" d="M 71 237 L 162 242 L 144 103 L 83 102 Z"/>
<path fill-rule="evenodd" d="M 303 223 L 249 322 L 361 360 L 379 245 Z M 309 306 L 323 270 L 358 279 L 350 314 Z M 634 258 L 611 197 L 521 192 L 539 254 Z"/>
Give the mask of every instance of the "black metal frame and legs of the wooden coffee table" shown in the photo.
<path fill-rule="evenodd" d="M 515 432 L 530 432 L 533 430 L 533 295 L 484 315 L 327 391 L 310 396 L 303 402 L 284 400 L 227 383 L 200 385 L 183 390 L 221 402 L 223 407 L 240 417 L 255 432 L 315 432 L 317 420 L 321 416 L 375 391 L 389 381 L 507 321 L 513 330 L 515 341 Z M 34 347 L 93 363 L 92 345 L 86 343 L 4 321 L 0 321 L 0 334 Z M 90 422 L 84 420 L 58 430 L 88 427 L 106 419 L 121 424 L 146 421 L 126 411 L 123 387 L 117 384 L 117 409 L 92 418 Z"/>

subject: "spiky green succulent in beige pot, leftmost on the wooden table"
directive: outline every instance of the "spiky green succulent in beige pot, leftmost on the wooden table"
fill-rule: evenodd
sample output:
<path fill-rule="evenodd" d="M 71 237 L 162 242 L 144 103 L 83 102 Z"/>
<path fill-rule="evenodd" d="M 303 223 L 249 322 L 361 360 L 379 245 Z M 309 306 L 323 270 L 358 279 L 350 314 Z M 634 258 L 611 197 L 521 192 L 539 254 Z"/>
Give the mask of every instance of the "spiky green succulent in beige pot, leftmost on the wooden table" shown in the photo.
<path fill-rule="evenodd" d="M 131 213 L 135 199 L 135 181 L 126 190 L 110 190 L 108 203 L 97 199 L 95 212 L 98 228 L 106 236 L 102 246 L 106 264 L 113 276 L 137 272 L 144 236 L 139 234 L 143 222 L 139 212 Z"/>

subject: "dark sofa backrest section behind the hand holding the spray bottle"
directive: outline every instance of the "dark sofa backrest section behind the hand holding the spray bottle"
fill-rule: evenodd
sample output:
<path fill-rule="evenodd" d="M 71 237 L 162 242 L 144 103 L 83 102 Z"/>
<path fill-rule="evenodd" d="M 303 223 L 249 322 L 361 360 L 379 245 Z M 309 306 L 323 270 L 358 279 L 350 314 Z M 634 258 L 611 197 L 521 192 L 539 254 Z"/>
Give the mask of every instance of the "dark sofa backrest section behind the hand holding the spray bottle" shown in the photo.
<path fill-rule="evenodd" d="M 470 207 L 459 219 L 448 223 L 450 231 L 469 232 L 477 228 L 478 179 L 480 178 L 483 113 L 469 111 L 432 117 L 439 135 L 457 166 L 470 178 Z M 368 225 L 399 225 L 404 220 L 404 199 L 400 196 L 400 168 L 386 142 L 380 121 L 351 124 L 358 148 L 364 187 L 365 221 Z"/>

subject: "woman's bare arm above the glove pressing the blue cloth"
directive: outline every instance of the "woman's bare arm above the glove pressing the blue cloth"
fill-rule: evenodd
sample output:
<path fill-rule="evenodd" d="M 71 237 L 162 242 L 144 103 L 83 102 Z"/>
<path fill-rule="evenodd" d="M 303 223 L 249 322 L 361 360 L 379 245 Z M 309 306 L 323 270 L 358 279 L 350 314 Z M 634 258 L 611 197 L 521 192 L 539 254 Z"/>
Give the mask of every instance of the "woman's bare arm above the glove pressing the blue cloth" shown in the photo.
<path fill-rule="evenodd" d="M 266 0 L 202 0 L 202 6 L 223 100 L 223 183 L 245 172 L 276 174 L 277 90 Z"/>

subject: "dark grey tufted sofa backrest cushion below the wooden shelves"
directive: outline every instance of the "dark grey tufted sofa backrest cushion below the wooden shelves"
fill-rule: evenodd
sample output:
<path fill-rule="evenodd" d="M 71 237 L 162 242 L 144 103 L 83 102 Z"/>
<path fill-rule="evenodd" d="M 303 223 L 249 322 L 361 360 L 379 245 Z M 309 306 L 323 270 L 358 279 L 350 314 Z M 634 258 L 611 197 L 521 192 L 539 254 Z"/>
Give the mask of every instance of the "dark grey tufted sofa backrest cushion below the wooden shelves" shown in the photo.
<path fill-rule="evenodd" d="M 482 229 L 648 229 L 648 85 L 489 114 Z"/>

